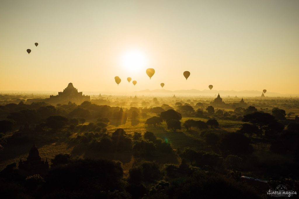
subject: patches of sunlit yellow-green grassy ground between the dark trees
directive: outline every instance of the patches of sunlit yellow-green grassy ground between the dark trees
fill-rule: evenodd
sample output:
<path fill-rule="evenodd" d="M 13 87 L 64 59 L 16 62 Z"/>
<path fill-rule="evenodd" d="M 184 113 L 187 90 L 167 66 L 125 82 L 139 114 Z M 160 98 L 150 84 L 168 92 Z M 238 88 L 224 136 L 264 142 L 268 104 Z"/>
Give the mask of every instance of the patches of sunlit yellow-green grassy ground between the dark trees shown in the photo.
<path fill-rule="evenodd" d="M 148 117 L 152 117 L 155 114 L 151 114 Z M 192 118 L 192 117 L 184 117 L 182 118 L 182 124 L 184 121 L 193 119 L 193 120 L 202 120 L 204 122 L 207 121 L 205 118 Z M 146 131 L 151 131 L 155 134 L 156 137 L 164 140 L 165 142 L 170 143 L 173 149 L 183 149 L 184 147 L 190 147 L 195 149 L 204 149 L 205 143 L 202 140 L 202 136 L 200 136 L 202 131 L 205 132 L 215 132 L 215 133 L 223 133 L 223 132 L 233 132 L 236 131 L 242 122 L 239 121 L 228 121 L 228 120 L 218 120 L 219 128 L 208 128 L 205 130 L 198 130 L 196 128 L 191 131 L 187 131 L 186 128 L 182 125 L 181 130 L 177 130 L 176 132 L 167 129 L 167 125 L 165 122 L 162 125 L 153 127 L 145 125 L 145 121 L 147 118 L 139 118 L 138 122 L 132 121 L 130 119 L 127 120 L 124 125 L 108 125 L 107 130 L 109 134 L 112 134 L 116 129 L 123 128 L 126 133 L 133 134 L 134 132 L 140 132 L 144 134 Z M 87 125 L 88 122 L 85 123 Z M 75 132 L 70 136 L 76 137 L 77 135 L 82 134 L 80 132 Z M 34 137 L 34 136 L 33 136 Z M 61 134 L 45 134 L 45 135 L 36 135 L 38 139 L 36 140 L 36 145 L 39 148 L 40 156 L 45 160 L 48 158 L 48 161 L 55 157 L 56 154 L 59 153 L 71 153 L 74 146 L 70 145 L 64 139 L 60 139 L 60 137 L 65 137 L 63 132 Z M 18 163 L 20 158 L 22 160 L 26 160 L 29 150 L 32 147 L 33 139 L 27 140 L 27 142 L 23 142 L 20 140 L 20 144 L 7 144 L 4 146 L 4 151 L 0 153 L 0 170 L 4 169 L 7 164 L 10 163 Z M 82 156 L 84 157 L 84 156 Z M 134 163 L 134 158 L 132 154 L 90 154 L 86 158 L 107 158 L 107 159 L 115 159 L 123 162 L 124 169 L 129 169 Z M 155 157 L 155 160 L 159 163 L 178 163 L 179 160 L 177 157 Z"/>

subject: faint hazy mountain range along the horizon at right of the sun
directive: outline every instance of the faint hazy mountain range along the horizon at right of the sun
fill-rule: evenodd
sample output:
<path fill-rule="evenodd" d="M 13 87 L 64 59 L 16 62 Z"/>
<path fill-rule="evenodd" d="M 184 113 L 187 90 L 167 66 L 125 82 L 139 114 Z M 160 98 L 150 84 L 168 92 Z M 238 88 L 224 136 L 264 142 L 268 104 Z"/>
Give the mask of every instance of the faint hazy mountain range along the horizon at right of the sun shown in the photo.
<path fill-rule="evenodd" d="M 242 97 L 242 96 L 248 96 L 248 97 L 260 97 L 262 95 L 263 91 L 224 91 L 224 90 L 197 90 L 197 89 L 189 89 L 189 90 L 175 90 L 175 91 L 170 91 L 170 90 L 165 90 L 165 89 L 155 89 L 155 90 L 142 90 L 142 91 L 135 91 L 135 93 L 144 93 L 144 94 L 176 94 L 176 95 L 180 95 L 180 94 L 184 94 L 184 95 L 204 95 L 204 96 L 214 96 L 215 94 L 218 95 L 218 93 L 220 94 L 220 96 L 230 96 L 230 97 L 234 97 L 234 96 L 238 96 L 238 97 Z M 281 97 L 296 97 L 298 96 L 298 94 L 281 94 L 281 93 L 275 93 L 275 92 L 266 92 L 265 96 L 281 96 Z"/>

